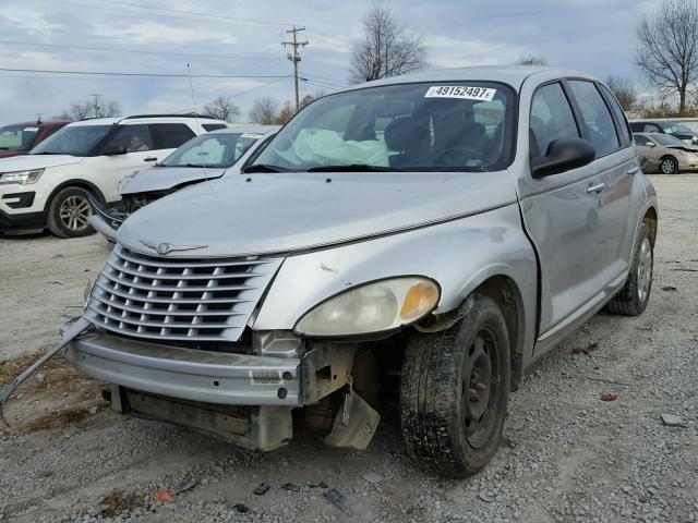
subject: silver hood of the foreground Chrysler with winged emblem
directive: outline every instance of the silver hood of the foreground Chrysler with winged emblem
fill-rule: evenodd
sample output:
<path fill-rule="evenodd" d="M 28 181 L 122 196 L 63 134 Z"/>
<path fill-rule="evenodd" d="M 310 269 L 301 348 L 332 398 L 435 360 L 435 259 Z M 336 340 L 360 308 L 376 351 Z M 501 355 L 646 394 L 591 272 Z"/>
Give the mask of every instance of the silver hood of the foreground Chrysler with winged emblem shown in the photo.
<path fill-rule="evenodd" d="M 149 254 L 147 245 L 168 243 L 173 257 L 287 253 L 514 203 L 507 171 L 234 174 L 143 207 L 120 227 L 117 241 Z"/>

